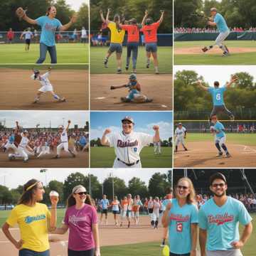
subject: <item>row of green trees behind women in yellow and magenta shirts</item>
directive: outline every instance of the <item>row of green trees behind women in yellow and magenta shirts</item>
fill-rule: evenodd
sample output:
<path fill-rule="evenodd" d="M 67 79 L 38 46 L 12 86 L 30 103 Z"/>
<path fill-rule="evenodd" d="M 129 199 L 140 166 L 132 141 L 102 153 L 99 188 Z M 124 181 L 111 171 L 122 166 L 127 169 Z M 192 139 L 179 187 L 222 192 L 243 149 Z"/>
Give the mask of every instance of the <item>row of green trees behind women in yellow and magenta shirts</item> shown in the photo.
<path fill-rule="evenodd" d="M 79 172 L 70 174 L 64 182 L 50 181 L 44 187 L 46 194 L 43 198 L 43 203 L 50 204 L 50 191 L 58 191 L 60 195 L 60 204 L 65 204 L 66 199 L 72 193 L 74 186 L 81 184 L 85 186 L 92 198 L 100 199 L 102 194 L 106 194 L 108 198 L 112 199 L 112 184 L 114 183 L 114 196 L 118 196 L 119 200 L 131 193 L 132 196 L 139 195 L 142 198 L 149 196 L 164 196 L 166 187 L 171 186 L 171 171 L 167 174 L 155 173 L 149 180 L 149 186 L 138 177 L 133 177 L 129 180 L 128 186 L 122 178 L 117 176 L 109 176 L 105 178 L 103 183 L 100 183 L 97 176 L 93 174 L 84 175 Z M 23 186 L 19 185 L 17 188 L 9 189 L 6 186 L 0 185 L 0 205 L 16 204 L 23 191 Z"/>

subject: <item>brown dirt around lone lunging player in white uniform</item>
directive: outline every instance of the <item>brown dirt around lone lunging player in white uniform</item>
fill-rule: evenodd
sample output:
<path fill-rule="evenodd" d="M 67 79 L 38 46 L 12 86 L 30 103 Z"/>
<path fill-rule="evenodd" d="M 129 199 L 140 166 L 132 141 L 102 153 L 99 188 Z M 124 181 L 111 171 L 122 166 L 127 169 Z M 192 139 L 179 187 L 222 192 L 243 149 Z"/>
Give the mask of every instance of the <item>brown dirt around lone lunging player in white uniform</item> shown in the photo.
<path fill-rule="evenodd" d="M 42 70 L 44 73 L 45 70 Z M 40 82 L 33 81 L 31 70 L 1 68 L 0 110 L 88 110 L 88 71 L 52 70 L 50 82 L 55 93 L 67 99 L 56 102 L 47 92 L 33 104 Z"/>

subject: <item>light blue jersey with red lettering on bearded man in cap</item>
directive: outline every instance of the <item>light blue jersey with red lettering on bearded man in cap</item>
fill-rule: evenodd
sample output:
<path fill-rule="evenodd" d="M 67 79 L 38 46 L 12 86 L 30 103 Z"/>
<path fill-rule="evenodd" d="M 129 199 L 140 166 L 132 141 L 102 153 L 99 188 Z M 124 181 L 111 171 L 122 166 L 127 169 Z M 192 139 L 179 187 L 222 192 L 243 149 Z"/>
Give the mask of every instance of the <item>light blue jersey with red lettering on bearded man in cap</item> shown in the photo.
<path fill-rule="evenodd" d="M 199 227 L 207 230 L 207 250 L 231 250 L 231 242 L 240 239 L 239 223 L 247 225 L 252 220 L 245 206 L 228 196 L 223 206 L 217 206 L 211 198 L 201 206 L 198 214 Z"/>

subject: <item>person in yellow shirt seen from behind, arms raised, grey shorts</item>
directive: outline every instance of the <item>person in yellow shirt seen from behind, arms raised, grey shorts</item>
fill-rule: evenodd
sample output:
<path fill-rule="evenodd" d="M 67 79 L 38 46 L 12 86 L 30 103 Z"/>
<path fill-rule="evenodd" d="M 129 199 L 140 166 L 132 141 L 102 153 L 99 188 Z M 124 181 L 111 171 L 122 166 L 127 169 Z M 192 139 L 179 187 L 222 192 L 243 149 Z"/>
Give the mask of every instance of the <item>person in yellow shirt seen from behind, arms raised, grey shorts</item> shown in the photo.
<path fill-rule="evenodd" d="M 124 41 L 125 31 L 122 28 L 119 28 L 120 16 L 114 14 L 114 21 L 110 21 L 110 9 L 107 9 L 106 19 L 103 16 L 103 11 L 100 11 L 100 18 L 102 22 L 107 24 L 107 27 L 110 28 L 111 38 L 110 38 L 110 48 L 107 50 L 107 55 L 104 60 L 105 68 L 107 68 L 107 62 L 112 53 L 116 52 L 117 55 L 117 74 L 122 73 L 122 42 Z"/>

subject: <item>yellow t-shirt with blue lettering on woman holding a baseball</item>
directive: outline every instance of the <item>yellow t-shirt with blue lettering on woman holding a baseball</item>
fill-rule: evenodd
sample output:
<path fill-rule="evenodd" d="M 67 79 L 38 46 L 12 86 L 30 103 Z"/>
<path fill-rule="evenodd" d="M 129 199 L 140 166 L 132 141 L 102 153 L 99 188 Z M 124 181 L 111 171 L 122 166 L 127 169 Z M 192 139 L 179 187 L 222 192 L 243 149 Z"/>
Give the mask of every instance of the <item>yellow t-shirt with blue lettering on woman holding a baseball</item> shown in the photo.
<path fill-rule="evenodd" d="M 49 218 L 50 211 L 43 203 L 36 203 L 33 207 L 20 204 L 11 210 L 6 223 L 11 227 L 18 224 L 24 241 L 23 249 L 44 252 L 50 248 L 47 226 Z"/>

